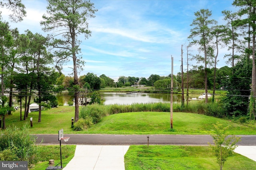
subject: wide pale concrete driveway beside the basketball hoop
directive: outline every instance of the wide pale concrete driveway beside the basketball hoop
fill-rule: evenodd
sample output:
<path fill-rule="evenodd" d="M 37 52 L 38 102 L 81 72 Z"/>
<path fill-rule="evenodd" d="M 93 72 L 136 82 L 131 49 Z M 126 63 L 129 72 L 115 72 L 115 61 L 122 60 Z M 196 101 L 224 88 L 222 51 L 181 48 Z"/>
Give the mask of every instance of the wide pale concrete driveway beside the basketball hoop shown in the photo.
<path fill-rule="evenodd" d="M 125 170 L 129 146 L 77 145 L 75 155 L 63 170 Z"/>

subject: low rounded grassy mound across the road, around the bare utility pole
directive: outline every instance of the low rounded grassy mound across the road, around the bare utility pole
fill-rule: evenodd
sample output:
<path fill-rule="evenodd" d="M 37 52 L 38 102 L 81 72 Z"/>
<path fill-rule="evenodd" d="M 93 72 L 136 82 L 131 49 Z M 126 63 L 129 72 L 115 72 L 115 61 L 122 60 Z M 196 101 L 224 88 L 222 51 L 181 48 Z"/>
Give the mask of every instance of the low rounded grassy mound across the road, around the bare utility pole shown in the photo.
<path fill-rule="evenodd" d="M 104 117 L 88 133 L 108 134 L 193 134 L 209 135 L 214 123 L 230 125 L 229 135 L 255 135 L 256 129 L 232 123 L 228 120 L 194 113 L 173 113 L 173 129 L 170 130 L 170 113 L 132 112 Z"/>

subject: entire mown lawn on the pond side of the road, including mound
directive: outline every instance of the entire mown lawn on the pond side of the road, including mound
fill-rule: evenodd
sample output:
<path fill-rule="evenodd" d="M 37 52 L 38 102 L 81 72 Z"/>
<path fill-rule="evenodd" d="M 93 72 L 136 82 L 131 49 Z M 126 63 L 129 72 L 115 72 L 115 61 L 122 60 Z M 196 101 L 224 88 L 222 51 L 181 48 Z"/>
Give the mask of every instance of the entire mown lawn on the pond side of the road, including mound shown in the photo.
<path fill-rule="evenodd" d="M 104 117 L 102 121 L 86 131 L 73 131 L 71 117 L 74 117 L 74 107 L 60 106 L 42 111 L 41 122 L 38 123 L 38 111 L 29 113 L 26 121 L 20 121 L 19 110 L 6 117 L 6 126 L 21 127 L 24 123 L 30 125 L 33 117 L 32 134 L 58 134 L 64 129 L 64 134 L 193 134 L 209 135 L 214 123 L 219 121 L 225 126 L 230 125 L 229 135 L 256 135 L 256 129 L 232 123 L 231 121 L 194 113 L 173 113 L 173 129 L 170 129 L 170 113 L 167 112 L 132 112 L 119 113 Z"/>

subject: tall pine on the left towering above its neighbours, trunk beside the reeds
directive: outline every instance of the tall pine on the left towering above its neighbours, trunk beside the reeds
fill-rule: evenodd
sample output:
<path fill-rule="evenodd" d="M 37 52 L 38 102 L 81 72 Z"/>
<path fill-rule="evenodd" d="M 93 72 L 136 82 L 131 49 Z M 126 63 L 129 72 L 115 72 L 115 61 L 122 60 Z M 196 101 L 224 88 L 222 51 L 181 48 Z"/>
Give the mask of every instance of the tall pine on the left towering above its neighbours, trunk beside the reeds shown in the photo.
<path fill-rule="evenodd" d="M 79 60 L 79 35 L 85 38 L 91 35 L 88 30 L 88 18 L 94 18 L 94 4 L 85 0 L 48 0 L 47 15 L 43 15 L 41 25 L 44 31 L 58 31 L 62 39 L 52 39 L 55 55 L 60 57 L 58 63 L 66 62 L 69 57 L 73 61 L 74 85 L 78 84 L 78 68 L 84 61 Z M 81 65 L 82 64 L 82 65 Z M 75 92 L 75 119 L 79 119 L 78 92 Z"/>

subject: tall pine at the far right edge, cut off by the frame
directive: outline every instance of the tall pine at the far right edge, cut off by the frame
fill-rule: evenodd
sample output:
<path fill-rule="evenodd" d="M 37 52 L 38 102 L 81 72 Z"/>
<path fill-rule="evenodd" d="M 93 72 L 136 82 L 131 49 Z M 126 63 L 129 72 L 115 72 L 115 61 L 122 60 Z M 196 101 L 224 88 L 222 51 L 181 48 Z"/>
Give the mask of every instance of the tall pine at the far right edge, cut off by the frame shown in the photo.
<path fill-rule="evenodd" d="M 256 40 L 256 1 L 255 0 L 234 0 L 234 6 L 240 7 L 238 11 L 239 16 L 243 16 L 244 19 L 238 19 L 233 22 L 236 26 L 248 27 L 248 41 L 251 40 L 252 48 L 248 47 L 246 53 L 252 57 L 252 85 L 251 85 L 251 97 L 250 97 L 250 118 L 256 118 L 256 63 L 255 63 L 255 40 Z"/>

